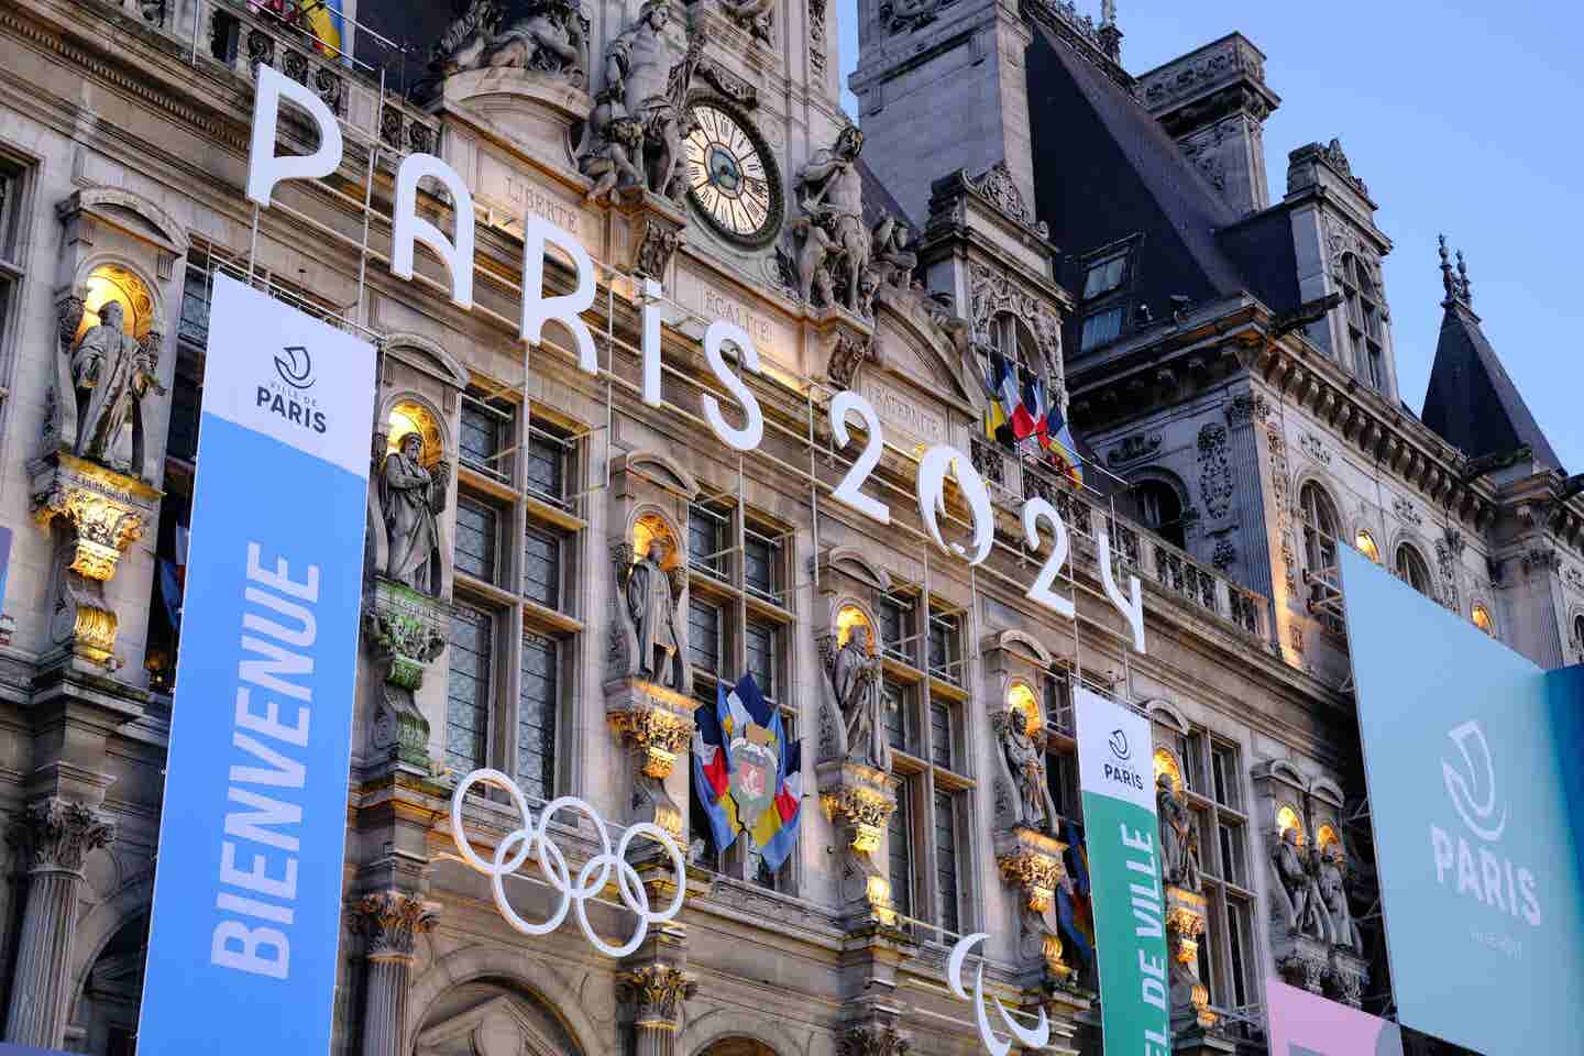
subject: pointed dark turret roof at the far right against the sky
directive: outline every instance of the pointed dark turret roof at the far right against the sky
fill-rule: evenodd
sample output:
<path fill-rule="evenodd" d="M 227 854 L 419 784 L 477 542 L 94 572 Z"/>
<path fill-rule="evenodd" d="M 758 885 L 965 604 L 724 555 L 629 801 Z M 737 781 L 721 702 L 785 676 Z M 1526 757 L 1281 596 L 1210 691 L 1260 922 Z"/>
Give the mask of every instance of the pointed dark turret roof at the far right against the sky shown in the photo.
<path fill-rule="evenodd" d="M 1462 304 L 1449 302 L 1441 317 L 1441 339 L 1435 345 L 1421 418 L 1468 458 L 1511 454 L 1529 446 L 1536 462 L 1562 469 L 1529 404 L 1479 329 L 1479 317 Z"/>

